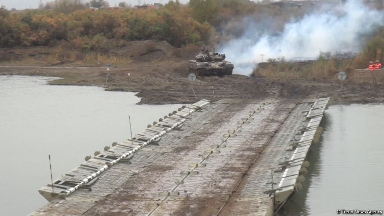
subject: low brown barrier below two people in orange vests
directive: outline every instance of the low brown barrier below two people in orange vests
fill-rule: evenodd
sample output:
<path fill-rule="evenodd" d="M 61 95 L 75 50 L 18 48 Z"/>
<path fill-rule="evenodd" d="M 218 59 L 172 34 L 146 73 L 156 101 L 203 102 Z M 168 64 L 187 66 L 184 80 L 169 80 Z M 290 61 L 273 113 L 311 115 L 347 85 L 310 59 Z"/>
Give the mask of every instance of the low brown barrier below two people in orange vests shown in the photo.
<path fill-rule="evenodd" d="M 355 81 L 356 83 L 383 84 L 384 69 L 355 69 L 353 71 L 353 81 Z"/>

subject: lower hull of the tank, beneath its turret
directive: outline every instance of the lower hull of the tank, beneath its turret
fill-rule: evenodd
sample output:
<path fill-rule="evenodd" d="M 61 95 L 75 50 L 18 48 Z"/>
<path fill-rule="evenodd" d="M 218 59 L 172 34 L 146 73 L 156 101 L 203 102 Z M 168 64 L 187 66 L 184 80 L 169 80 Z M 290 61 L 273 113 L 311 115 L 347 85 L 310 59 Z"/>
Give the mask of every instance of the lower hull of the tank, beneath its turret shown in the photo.
<path fill-rule="evenodd" d="M 189 60 L 187 63 L 190 73 L 196 76 L 223 76 L 232 75 L 233 64 L 229 61 L 196 61 Z"/>

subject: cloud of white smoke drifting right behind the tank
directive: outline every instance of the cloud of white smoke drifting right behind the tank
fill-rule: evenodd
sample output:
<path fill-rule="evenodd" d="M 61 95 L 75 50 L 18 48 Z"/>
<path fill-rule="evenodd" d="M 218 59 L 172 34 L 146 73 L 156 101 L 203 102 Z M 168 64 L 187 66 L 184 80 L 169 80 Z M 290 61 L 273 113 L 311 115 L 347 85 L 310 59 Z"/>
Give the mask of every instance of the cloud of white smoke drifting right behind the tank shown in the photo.
<path fill-rule="evenodd" d="M 262 54 L 265 62 L 281 56 L 290 60 L 316 58 L 319 52 L 358 52 L 364 45 L 361 37 L 383 23 L 382 11 L 368 8 L 359 0 L 347 0 L 344 4 L 321 5 L 301 20 L 286 23 L 278 36 L 260 34 L 257 25 L 250 23 L 242 37 L 220 50 L 235 64 L 234 73 L 249 75 L 255 63 L 262 61 Z"/>

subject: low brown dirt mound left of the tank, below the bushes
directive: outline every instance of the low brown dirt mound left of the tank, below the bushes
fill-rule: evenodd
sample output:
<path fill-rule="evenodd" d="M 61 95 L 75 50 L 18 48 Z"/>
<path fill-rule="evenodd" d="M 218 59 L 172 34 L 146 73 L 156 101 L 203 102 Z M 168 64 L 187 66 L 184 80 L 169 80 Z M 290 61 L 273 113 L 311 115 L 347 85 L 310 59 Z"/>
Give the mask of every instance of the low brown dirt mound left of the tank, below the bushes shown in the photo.
<path fill-rule="evenodd" d="M 152 40 L 132 41 L 127 43 L 118 52 L 129 56 L 135 61 L 164 61 L 171 60 L 174 47 L 166 41 L 154 42 Z"/>

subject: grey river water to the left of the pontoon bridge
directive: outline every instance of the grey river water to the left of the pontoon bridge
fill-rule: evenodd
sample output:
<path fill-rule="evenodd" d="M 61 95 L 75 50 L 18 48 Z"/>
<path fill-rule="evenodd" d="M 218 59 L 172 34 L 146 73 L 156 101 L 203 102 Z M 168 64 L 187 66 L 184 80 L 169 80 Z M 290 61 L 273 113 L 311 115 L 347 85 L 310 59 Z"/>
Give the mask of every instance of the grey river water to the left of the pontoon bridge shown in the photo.
<path fill-rule="evenodd" d="M 22 216 L 47 201 L 38 193 L 94 151 L 144 130 L 181 105 L 135 105 L 130 92 L 50 86 L 52 77 L 0 76 L 1 215 Z"/>

